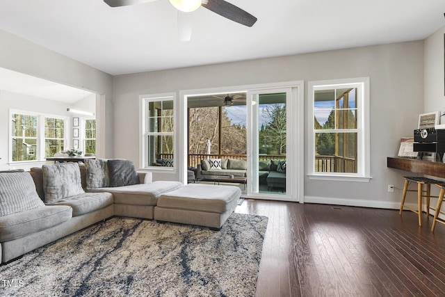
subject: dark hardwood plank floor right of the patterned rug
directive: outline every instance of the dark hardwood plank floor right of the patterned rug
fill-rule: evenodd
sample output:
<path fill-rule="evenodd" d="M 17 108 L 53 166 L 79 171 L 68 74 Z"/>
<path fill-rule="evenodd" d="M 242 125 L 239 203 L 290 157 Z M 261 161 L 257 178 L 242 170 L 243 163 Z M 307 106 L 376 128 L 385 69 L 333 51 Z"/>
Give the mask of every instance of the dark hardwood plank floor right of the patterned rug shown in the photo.
<path fill-rule="evenodd" d="M 445 296 L 445 225 L 411 211 L 245 200 L 268 216 L 256 296 Z"/>

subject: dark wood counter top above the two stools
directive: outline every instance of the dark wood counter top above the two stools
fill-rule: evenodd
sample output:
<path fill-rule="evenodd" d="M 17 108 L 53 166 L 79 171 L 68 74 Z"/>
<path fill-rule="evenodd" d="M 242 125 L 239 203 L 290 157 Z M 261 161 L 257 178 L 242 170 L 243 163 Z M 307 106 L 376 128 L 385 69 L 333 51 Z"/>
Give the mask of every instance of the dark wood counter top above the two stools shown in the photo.
<path fill-rule="evenodd" d="M 414 173 L 422 173 L 433 177 L 445 178 L 445 163 L 439 161 L 426 161 L 420 159 L 402 158 L 399 156 L 387 157 L 387 167 Z"/>

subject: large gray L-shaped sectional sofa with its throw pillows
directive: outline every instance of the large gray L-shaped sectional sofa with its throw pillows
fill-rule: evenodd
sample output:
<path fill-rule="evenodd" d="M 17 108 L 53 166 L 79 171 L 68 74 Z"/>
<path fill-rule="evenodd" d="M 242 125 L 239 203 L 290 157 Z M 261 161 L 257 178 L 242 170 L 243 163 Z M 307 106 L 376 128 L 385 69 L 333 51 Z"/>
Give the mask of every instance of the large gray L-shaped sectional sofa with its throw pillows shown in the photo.
<path fill-rule="evenodd" d="M 230 187 L 224 197 L 212 198 L 212 191 L 220 191 L 195 188 L 207 194 L 201 198 L 197 195 L 197 203 L 187 209 L 184 203 L 190 204 L 187 201 L 194 198 L 188 186 L 192 185 L 152 182 L 151 172 L 137 172 L 131 161 L 122 159 L 57 163 L 31 168 L 30 172 L 0 172 L 1 262 L 111 216 L 156 219 L 154 212 L 160 198 L 164 204 L 163 221 L 218 229 L 232 214 L 241 195 L 239 188 Z M 175 193 L 175 197 L 167 193 Z M 179 210 L 181 217 L 169 219 L 170 212 Z M 197 220 L 208 213 L 209 218 Z"/>

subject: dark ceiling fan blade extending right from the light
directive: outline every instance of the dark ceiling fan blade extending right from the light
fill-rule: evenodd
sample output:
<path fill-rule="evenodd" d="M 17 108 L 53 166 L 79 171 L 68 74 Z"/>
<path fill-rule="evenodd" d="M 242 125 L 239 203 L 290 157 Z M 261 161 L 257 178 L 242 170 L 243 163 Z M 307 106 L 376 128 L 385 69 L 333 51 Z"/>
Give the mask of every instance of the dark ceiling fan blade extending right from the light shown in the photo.
<path fill-rule="evenodd" d="M 257 22 L 256 17 L 227 1 L 208 0 L 207 3 L 205 2 L 206 1 L 202 1 L 201 6 L 213 11 L 213 13 L 217 13 L 222 17 L 231 19 L 239 24 L 243 24 L 244 26 L 251 27 L 255 24 L 255 22 Z"/>

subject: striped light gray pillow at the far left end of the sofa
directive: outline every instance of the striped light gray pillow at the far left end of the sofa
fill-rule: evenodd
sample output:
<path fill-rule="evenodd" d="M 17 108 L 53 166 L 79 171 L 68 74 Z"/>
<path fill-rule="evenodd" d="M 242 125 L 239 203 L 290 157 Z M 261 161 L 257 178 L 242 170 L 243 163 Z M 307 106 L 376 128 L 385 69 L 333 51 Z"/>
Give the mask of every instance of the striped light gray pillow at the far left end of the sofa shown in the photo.
<path fill-rule="evenodd" d="M 29 172 L 0 174 L 0 216 L 43 206 Z"/>

